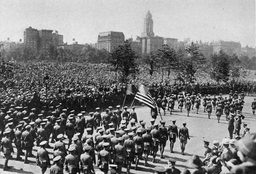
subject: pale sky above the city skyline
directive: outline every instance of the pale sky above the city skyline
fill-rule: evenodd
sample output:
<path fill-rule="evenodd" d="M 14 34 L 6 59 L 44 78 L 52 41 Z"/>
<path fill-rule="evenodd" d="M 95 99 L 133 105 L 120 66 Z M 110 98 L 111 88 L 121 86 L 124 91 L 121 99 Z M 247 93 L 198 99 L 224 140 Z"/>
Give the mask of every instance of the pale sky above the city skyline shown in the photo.
<path fill-rule="evenodd" d="M 255 47 L 254 0 L 0 0 L 0 41 L 23 41 L 29 26 L 57 30 L 68 44 L 96 43 L 104 31 L 136 38 L 148 10 L 155 36 Z"/>

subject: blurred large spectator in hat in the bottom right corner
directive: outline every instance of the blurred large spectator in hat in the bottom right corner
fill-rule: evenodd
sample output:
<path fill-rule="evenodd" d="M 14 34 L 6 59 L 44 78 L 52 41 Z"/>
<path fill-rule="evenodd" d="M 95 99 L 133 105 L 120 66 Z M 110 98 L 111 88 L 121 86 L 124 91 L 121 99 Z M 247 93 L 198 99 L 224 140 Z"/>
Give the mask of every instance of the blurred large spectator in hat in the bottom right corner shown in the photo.
<path fill-rule="evenodd" d="M 231 174 L 253 174 L 256 173 L 256 134 L 251 133 L 235 143 L 237 155 L 242 164 L 235 165 Z"/>

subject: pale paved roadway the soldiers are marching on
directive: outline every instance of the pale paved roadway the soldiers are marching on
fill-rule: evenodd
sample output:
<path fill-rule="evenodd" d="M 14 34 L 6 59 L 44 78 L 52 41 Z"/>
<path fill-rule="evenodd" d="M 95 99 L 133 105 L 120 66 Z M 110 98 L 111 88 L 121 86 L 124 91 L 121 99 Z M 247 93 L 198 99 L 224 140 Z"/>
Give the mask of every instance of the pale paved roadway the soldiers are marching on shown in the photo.
<path fill-rule="evenodd" d="M 250 132 L 256 132 L 256 117 L 252 114 L 251 109 L 251 101 L 253 101 L 253 97 L 246 97 L 245 98 L 245 104 L 242 114 L 246 117 L 244 120 L 242 120 L 242 123 L 247 123 L 248 127 L 251 128 Z M 162 165 L 167 166 L 167 160 L 169 157 L 173 157 L 177 160 L 176 167 L 180 170 L 183 170 L 186 167 L 186 160 L 189 159 L 190 156 L 193 154 L 199 155 L 201 158 L 203 158 L 204 154 L 204 148 L 203 148 L 203 140 L 209 140 L 210 142 L 213 142 L 213 140 L 219 140 L 221 142 L 222 138 L 228 137 L 228 121 L 225 121 L 225 116 L 222 116 L 220 119 L 220 123 L 217 123 L 217 118 L 214 114 L 214 110 L 211 116 L 211 119 L 208 119 L 208 114 L 204 113 L 203 108 L 201 107 L 199 109 L 199 113 L 196 114 L 195 110 L 190 111 L 190 116 L 187 117 L 186 113 L 187 111 L 184 109 L 181 113 L 179 109 L 177 109 L 177 102 L 175 103 L 175 110 L 173 111 L 173 114 L 170 115 L 170 113 L 166 113 L 165 116 L 162 118 L 166 120 L 166 126 L 171 124 L 172 119 L 176 119 L 176 125 L 178 128 L 182 126 L 183 121 L 187 122 L 187 128 L 189 129 L 190 134 L 190 140 L 188 140 L 188 143 L 186 145 L 185 149 L 185 156 L 180 154 L 180 141 L 177 139 L 173 150 L 175 151 L 174 154 L 170 153 L 170 142 L 168 141 L 166 144 L 166 149 L 164 152 L 165 159 L 161 159 L 159 157 L 159 152 L 157 154 L 157 159 L 159 159 L 156 163 L 149 162 L 149 167 L 144 167 L 144 161 L 141 161 L 138 165 L 138 170 L 134 170 L 134 165 L 132 165 L 131 173 L 140 173 L 140 174 L 146 174 L 147 172 L 154 172 L 154 167 L 156 165 Z M 148 107 L 140 106 L 135 109 L 137 112 L 138 119 L 142 118 L 144 121 L 146 121 L 146 126 L 150 124 L 150 109 Z M 160 116 L 157 117 L 156 122 L 159 122 L 161 120 Z M 67 141 L 66 141 L 67 143 Z M 50 143 L 51 146 L 53 144 Z M 213 144 L 210 143 L 210 147 Z M 33 154 L 36 155 L 36 151 L 38 150 L 38 147 L 34 147 Z M 50 159 L 52 159 L 52 148 L 47 149 L 48 152 L 50 152 Z M 16 152 L 16 148 L 14 148 L 14 152 Z M 14 158 L 16 158 L 16 153 L 13 155 Z M 24 160 L 24 156 L 22 156 L 22 159 Z M 36 166 L 35 157 L 34 158 L 28 158 L 31 163 L 30 164 L 24 164 L 20 161 L 10 160 L 9 165 L 12 166 L 12 169 L 10 169 L 8 172 L 2 171 L 3 164 L 4 164 L 4 157 L 1 152 L 0 154 L 0 173 L 4 174 L 14 174 L 14 173 L 22 173 L 22 174 L 39 174 L 41 173 L 40 167 Z M 97 166 L 95 167 L 96 171 L 99 170 Z M 123 169 L 123 172 L 125 172 L 126 169 Z M 45 172 L 45 174 L 49 173 L 49 168 Z M 66 172 L 64 171 L 64 174 Z"/>

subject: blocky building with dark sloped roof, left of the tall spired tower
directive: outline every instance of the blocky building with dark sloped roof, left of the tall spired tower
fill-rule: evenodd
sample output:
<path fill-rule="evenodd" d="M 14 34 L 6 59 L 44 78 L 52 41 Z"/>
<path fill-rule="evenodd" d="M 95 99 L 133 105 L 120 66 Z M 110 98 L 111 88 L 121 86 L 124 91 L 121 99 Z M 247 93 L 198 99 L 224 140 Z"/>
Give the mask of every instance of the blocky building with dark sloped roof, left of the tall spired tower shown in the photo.
<path fill-rule="evenodd" d="M 125 35 L 123 34 L 123 32 L 100 32 L 98 36 L 97 46 L 98 49 L 106 49 L 109 53 L 111 53 L 114 48 L 117 48 L 119 45 L 123 44 L 124 41 Z"/>

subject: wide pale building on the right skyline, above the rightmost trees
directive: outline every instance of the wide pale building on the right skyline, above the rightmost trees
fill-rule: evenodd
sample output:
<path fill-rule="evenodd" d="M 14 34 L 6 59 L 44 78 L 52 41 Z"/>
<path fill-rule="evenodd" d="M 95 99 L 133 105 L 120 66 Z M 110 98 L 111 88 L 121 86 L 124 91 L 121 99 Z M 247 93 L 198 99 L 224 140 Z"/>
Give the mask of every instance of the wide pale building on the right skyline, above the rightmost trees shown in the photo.
<path fill-rule="evenodd" d="M 213 42 L 213 53 L 218 54 L 220 50 L 224 51 L 227 55 L 240 55 L 241 44 L 233 41 L 216 41 Z"/>

